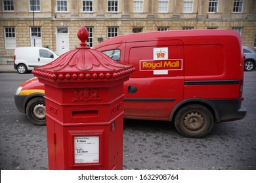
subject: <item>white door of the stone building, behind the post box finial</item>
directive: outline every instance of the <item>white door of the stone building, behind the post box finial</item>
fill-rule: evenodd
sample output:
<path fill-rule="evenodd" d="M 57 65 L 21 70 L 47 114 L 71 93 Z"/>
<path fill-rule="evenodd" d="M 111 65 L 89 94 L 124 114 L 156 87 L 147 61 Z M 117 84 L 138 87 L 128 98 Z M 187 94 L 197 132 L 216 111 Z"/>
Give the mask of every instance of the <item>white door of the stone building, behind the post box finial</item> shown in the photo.
<path fill-rule="evenodd" d="M 59 56 L 69 51 L 68 27 L 57 27 L 56 43 L 56 51 Z"/>

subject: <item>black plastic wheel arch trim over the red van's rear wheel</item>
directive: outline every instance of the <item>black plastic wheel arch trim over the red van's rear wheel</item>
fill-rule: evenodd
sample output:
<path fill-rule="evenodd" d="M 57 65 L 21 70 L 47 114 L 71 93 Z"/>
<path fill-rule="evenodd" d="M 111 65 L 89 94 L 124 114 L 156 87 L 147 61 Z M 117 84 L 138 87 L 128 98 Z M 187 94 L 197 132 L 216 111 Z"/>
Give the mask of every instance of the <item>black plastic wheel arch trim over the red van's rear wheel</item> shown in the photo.
<path fill-rule="evenodd" d="M 173 122 L 175 120 L 175 116 L 177 112 L 181 110 L 181 108 L 187 105 L 194 105 L 194 104 L 202 105 L 203 107 L 206 107 L 207 109 L 209 109 L 211 111 L 211 114 L 213 115 L 214 122 L 219 122 L 220 118 L 219 118 L 217 107 L 210 101 L 206 99 L 200 99 L 200 98 L 186 99 L 184 101 L 181 101 L 177 105 L 175 105 L 175 107 L 171 111 L 171 114 L 169 115 L 169 122 Z"/>

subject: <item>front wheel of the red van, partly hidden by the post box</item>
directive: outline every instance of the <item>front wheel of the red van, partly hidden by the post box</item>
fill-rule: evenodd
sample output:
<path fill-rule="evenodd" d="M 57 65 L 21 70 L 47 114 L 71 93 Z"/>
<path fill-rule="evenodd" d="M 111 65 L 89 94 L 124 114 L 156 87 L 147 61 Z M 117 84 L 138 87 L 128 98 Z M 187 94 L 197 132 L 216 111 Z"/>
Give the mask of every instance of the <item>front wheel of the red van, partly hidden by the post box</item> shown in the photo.
<path fill-rule="evenodd" d="M 45 125 L 45 99 L 43 97 L 33 98 L 26 107 L 26 113 L 32 124 Z"/>

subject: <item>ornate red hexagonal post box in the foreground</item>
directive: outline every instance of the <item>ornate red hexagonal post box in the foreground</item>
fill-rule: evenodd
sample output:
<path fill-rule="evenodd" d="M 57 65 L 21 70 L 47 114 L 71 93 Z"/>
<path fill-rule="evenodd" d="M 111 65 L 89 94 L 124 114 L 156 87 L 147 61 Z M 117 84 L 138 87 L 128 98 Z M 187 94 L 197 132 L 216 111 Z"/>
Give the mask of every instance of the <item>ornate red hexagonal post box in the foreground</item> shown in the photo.
<path fill-rule="evenodd" d="M 123 169 L 123 82 L 135 71 L 81 46 L 33 75 L 45 84 L 49 169 Z"/>

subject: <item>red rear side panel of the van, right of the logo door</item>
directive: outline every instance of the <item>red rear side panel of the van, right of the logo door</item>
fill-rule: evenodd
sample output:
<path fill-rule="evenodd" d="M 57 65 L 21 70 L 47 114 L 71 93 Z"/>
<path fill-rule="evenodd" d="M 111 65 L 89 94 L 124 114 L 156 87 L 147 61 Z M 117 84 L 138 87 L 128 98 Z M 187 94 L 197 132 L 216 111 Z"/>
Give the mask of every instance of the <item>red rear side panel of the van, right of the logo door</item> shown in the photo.
<path fill-rule="evenodd" d="M 184 45 L 184 99 L 240 97 L 244 76 L 238 39 L 215 37 L 211 42 L 219 44 Z"/>

